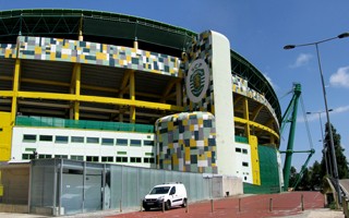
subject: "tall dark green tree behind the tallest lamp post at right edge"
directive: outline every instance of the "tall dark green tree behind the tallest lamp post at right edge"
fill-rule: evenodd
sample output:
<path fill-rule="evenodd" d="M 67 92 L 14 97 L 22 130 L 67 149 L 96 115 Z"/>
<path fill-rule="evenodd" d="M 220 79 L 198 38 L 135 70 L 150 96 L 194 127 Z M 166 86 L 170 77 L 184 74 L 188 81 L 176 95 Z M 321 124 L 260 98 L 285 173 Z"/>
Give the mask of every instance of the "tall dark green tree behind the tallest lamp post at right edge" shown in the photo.
<path fill-rule="evenodd" d="M 340 146 L 340 135 L 337 134 L 337 130 L 332 124 L 330 124 L 330 128 L 332 128 L 332 132 L 333 132 L 335 155 L 336 155 L 336 159 L 337 159 L 338 178 L 339 179 L 348 179 L 349 178 L 348 161 L 347 161 L 346 156 L 344 155 L 345 149 Z M 330 142 L 329 142 L 329 134 L 328 134 L 329 131 L 328 130 L 329 130 L 328 124 L 326 123 L 326 125 L 325 125 L 325 145 L 326 145 L 327 149 L 325 149 L 325 150 L 328 153 L 327 157 L 329 157 L 327 159 L 327 162 L 328 162 L 328 165 L 333 166 Z M 324 155 L 326 153 L 324 153 Z M 323 170 L 326 170 L 326 165 L 325 165 L 324 158 L 325 157 L 323 156 L 322 161 L 321 161 L 321 164 L 322 164 L 321 168 Z"/>

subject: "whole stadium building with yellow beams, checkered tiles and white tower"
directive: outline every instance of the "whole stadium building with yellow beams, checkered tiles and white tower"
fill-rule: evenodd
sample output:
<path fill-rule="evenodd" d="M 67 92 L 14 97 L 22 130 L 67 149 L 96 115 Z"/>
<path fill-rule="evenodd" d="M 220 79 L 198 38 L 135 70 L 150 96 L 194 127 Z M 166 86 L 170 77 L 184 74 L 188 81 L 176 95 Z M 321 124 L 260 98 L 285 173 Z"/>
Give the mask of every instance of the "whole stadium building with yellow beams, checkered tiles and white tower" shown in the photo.
<path fill-rule="evenodd" d="M 279 192 L 270 83 L 214 31 L 85 10 L 0 12 L 0 160 L 236 175 Z"/>

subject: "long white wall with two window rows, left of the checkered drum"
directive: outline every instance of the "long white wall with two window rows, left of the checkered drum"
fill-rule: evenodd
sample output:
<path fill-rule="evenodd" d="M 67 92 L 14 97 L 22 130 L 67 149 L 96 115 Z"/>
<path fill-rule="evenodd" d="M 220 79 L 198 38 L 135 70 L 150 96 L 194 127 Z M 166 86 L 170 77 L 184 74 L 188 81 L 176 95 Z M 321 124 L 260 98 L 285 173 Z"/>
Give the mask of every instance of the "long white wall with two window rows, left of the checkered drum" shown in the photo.
<path fill-rule="evenodd" d="M 43 136 L 46 140 L 51 140 L 43 141 Z M 57 141 L 57 136 L 64 140 L 68 137 L 68 141 Z M 27 140 L 27 137 L 35 137 L 35 140 Z M 83 141 L 72 142 L 73 137 L 80 137 Z M 88 138 L 96 142 L 91 143 Z M 104 143 L 104 138 L 107 143 Z M 117 145 L 117 140 L 123 140 L 127 144 Z M 132 142 L 135 142 L 135 144 L 132 145 Z M 147 144 L 145 142 L 153 143 L 153 145 L 145 145 Z M 79 157 L 82 158 L 80 160 L 85 161 L 89 158 L 89 161 L 117 162 L 148 168 L 155 168 L 156 166 L 153 133 L 14 126 L 12 160 L 28 159 L 24 157 L 33 155 L 34 150 L 40 158 L 67 157 L 74 159 Z M 117 161 L 117 157 L 127 157 L 128 161 Z M 131 160 L 134 161 L 131 162 Z"/>

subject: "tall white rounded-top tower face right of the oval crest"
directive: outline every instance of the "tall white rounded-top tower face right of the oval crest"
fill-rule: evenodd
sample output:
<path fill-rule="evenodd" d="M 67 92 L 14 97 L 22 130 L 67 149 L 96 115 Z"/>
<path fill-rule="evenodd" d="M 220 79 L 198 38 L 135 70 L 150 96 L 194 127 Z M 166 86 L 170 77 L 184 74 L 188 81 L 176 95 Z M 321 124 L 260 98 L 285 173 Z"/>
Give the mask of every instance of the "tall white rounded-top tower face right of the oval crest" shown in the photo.
<path fill-rule="evenodd" d="M 230 44 L 224 35 L 212 32 L 212 73 L 215 99 L 218 174 L 233 175 L 234 123 L 230 70 Z"/>

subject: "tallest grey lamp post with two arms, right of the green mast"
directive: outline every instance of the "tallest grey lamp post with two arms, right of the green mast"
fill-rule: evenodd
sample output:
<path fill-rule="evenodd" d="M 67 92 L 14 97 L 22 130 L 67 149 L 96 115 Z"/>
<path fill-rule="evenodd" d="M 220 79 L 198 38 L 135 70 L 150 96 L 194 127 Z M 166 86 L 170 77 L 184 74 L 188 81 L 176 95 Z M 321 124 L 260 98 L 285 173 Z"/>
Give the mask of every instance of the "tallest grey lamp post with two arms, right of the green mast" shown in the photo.
<path fill-rule="evenodd" d="M 318 64 L 320 76 L 321 76 L 321 82 L 322 82 L 322 87 L 323 87 L 324 101 L 325 101 L 325 112 L 326 112 L 326 118 L 327 118 L 327 123 L 328 123 L 329 146 L 330 146 L 329 148 L 330 148 L 330 153 L 332 153 L 332 165 L 333 165 L 333 177 L 334 177 L 334 181 L 335 181 L 335 187 L 336 187 L 339 204 L 341 204 L 341 196 L 340 196 L 340 189 L 339 189 L 339 181 L 338 181 L 338 179 L 339 179 L 338 178 L 338 167 L 337 167 L 337 159 L 336 159 L 336 153 L 335 153 L 334 136 L 333 136 L 333 131 L 332 131 L 329 114 L 328 114 L 324 75 L 323 75 L 323 70 L 321 68 L 321 61 L 320 61 L 318 44 L 334 40 L 337 38 L 346 38 L 346 37 L 349 37 L 349 33 L 342 33 L 336 37 L 323 39 L 323 40 L 315 41 L 315 43 L 301 44 L 301 45 L 287 45 L 284 47 L 284 49 L 293 49 L 296 47 L 303 47 L 303 46 L 315 46 L 315 48 L 316 48 L 317 64 Z"/>

